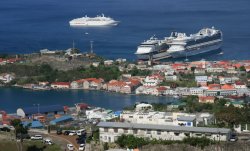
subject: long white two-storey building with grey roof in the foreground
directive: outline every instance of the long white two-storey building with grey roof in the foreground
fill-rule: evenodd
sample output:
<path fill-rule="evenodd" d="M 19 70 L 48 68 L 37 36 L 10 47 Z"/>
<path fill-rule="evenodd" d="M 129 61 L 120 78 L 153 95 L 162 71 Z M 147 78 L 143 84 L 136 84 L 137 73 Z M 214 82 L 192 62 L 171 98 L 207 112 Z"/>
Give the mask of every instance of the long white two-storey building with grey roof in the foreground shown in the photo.
<path fill-rule="evenodd" d="M 183 140 L 187 137 L 206 137 L 216 141 L 227 141 L 231 130 L 226 128 L 185 127 L 171 125 L 153 125 L 139 123 L 100 122 L 98 125 L 101 142 L 115 142 L 119 136 L 134 135 L 136 137 Z"/>

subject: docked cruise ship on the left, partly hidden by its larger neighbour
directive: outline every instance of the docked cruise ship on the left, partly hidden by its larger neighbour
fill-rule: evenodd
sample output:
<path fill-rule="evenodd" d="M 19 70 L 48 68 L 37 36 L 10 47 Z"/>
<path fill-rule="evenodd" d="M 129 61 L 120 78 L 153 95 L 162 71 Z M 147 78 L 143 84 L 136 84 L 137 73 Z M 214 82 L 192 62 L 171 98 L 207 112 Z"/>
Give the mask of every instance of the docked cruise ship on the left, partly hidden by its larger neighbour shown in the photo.
<path fill-rule="evenodd" d="M 173 39 L 173 37 L 166 37 L 164 40 L 159 40 L 153 36 L 149 40 L 142 42 L 137 47 L 135 54 L 139 60 L 160 60 L 168 58 L 168 43 L 171 42 L 171 39 Z"/>

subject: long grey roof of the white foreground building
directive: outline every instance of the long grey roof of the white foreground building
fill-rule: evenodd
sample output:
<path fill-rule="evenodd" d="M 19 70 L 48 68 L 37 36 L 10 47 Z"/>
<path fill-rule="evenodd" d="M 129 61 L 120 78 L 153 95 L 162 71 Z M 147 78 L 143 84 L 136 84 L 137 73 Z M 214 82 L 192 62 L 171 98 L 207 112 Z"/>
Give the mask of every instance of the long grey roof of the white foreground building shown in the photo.
<path fill-rule="evenodd" d="M 184 132 L 198 132 L 198 133 L 227 134 L 230 132 L 230 129 L 226 128 L 185 127 L 185 126 L 122 123 L 122 122 L 100 122 L 97 126 L 106 128 L 151 129 L 151 130 L 166 130 L 166 131 L 178 131 L 178 132 L 184 131 Z"/>

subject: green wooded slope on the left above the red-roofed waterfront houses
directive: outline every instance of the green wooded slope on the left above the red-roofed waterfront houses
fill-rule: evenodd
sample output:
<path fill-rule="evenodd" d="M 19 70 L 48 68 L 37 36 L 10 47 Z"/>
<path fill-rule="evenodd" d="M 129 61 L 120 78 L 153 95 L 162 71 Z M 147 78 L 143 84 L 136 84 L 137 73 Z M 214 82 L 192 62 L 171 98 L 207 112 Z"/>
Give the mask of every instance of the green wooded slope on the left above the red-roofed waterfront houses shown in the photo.
<path fill-rule="evenodd" d="M 0 66 L 0 73 L 14 73 L 17 79 L 13 83 L 25 84 L 36 83 L 38 81 L 60 81 L 69 82 L 82 78 L 103 78 L 105 81 L 118 79 L 121 75 L 118 67 L 104 66 L 78 68 L 69 71 L 61 71 L 53 69 L 48 64 L 42 65 L 23 65 L 23 64 L 8 64 Z"/>

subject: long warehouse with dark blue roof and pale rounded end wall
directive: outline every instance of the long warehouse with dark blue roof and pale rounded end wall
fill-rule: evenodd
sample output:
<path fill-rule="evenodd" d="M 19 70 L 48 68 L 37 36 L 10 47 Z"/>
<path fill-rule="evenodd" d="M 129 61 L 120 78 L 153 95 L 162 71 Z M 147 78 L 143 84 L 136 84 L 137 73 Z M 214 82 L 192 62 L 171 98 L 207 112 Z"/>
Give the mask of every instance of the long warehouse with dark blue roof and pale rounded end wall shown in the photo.
<path fill-rule="evenodd" d="M 64 108 L 61 105 L 49 105 L 49 106 L 32 106 L 26 108 L 18 108 L 17 115 L 21 117 L 31 116 L 33 114 L 48 114 L 64 112 Z"/>

